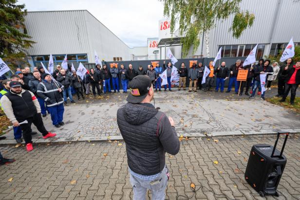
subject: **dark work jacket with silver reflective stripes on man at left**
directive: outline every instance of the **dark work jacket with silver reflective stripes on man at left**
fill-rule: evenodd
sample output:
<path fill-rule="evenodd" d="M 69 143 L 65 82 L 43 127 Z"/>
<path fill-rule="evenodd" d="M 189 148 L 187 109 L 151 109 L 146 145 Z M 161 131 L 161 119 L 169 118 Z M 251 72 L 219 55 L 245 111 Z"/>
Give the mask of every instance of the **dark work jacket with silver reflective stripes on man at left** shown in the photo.
<path fill-rule="evenodd" d="M 63 103 L 63 99 L 61 93 L 57 89 L 57 85 L 60 89 L 64 88 L 58 81 L 54 83 L 54 80 L 51 80 L 51 82 L 43 80 L 38 84 L 38 96 L 45 100 L 48 107 L 57 106 Z"/>

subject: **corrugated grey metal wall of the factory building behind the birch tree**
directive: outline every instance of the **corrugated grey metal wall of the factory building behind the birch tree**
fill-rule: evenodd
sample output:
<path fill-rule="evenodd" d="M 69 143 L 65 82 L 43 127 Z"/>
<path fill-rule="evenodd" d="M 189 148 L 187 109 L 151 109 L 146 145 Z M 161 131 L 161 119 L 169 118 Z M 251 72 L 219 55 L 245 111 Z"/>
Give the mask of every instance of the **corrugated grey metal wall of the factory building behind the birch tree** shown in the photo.
<path fill-rule="evenodd" d="M 280 2 L 278 12 L 276 6 Z M 226 20 L 219 20 L 216 27 L 209 34 L 210 56 L 214 57 L 218 52 L 218 45 L 231 44 L 267 44 L 272 30 L 275 15 L 275 27 L 271 43 L 288 42 L 294 36 L 294 42 L 300 42 L 300 3 L 293 0 L 243 0 L 242 10 L 249 10 L 255 15 L 255 21 L 251 28 L 246 29 L 238 39 L 228 32 L 232 25 L 233 16 Z M 204 55 L 206 48 L 204 46 Z M 194 55 L 200 55 L 201 44 Z M 189 54 L 190 55 L 190 54 Z"/>

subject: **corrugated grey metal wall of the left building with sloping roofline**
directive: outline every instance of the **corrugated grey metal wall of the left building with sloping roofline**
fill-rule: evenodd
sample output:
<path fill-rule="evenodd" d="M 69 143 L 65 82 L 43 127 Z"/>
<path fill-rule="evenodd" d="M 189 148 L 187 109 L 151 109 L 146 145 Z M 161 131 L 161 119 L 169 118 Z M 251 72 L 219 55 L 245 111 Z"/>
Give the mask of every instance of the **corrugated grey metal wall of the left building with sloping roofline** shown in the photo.
<path fill-rule="evenodd" d="M 129 59 L 129 47 L 86 10 L 28 12 L 25 25 L 37 43 L 28 55 L 88 54 L 100 59 Z"/>

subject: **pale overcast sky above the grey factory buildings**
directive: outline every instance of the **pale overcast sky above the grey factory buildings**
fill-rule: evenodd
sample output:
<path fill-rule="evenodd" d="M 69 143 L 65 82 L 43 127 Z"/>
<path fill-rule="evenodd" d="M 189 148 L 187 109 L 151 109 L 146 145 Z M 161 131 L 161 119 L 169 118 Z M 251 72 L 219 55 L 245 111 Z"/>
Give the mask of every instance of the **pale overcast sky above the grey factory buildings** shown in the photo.
<path fill-rule="evenodd" d="M 158 37 L 163 18 L 159 0 L 19 0 L 28 11 L 88 10 L 129 47 L 147 46 L 147 37 Z"/>

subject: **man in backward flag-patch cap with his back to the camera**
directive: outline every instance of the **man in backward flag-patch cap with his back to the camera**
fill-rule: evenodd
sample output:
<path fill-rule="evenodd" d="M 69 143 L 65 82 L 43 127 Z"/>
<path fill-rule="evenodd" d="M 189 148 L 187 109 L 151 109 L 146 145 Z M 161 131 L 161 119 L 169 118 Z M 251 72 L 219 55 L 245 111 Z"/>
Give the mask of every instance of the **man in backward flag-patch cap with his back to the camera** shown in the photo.
<path fill-rule="evenodd" d="M 133 200 L 164 200 L 169 180 L 165 152 L 175 155 L 180 143 L 171 117 L 155 109 L 153 86 L 148 76 L 138 75 L 130 84 L 128 103 L 117 111 L 117 123 L 126 144 Z"/>

